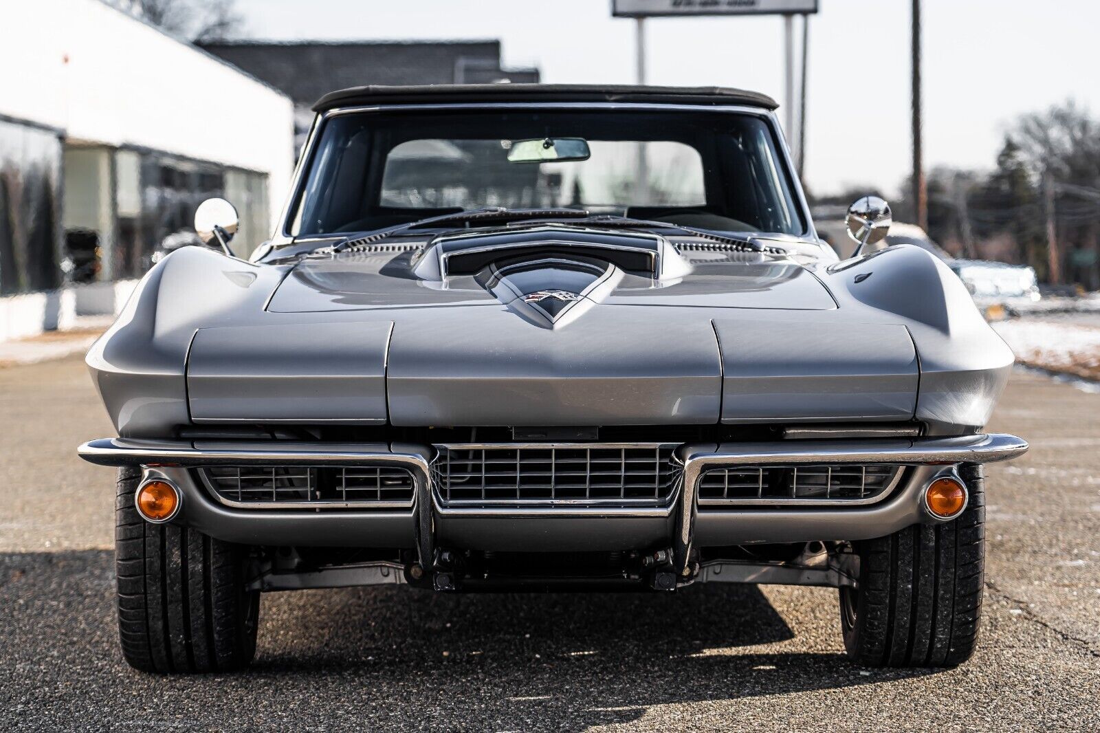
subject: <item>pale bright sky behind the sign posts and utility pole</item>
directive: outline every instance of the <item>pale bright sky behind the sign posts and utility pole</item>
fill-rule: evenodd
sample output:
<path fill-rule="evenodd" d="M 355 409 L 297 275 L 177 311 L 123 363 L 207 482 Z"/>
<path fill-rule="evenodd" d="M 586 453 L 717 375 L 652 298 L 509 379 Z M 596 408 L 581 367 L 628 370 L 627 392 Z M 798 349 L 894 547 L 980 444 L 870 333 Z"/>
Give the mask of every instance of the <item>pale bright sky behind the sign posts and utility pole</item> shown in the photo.
<path fill-rule="evenodd" d="M 238 0 L 260 39 L 499 39 L 548 83 L 632 83 L 634 22 L 606 0 Z M 909 0 L 821 0 L 811 21 L 806 180 L 893 195 L 910 166 Z M 652 19 L 649 81 L 782 100 L 779 18 Z M 1100 113 L 1100 0 L 924 0 L 926 165 L 993 165 L 1021 112 Z"/>

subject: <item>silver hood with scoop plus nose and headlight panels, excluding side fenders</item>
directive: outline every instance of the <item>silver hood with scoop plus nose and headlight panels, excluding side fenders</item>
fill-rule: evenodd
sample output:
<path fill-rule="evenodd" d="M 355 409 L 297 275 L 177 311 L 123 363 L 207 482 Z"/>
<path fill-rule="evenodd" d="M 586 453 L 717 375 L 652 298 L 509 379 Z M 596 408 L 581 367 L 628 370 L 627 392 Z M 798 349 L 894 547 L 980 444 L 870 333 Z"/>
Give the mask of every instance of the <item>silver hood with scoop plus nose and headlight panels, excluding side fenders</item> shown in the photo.
<path fill-rule="evenodd" d="M 198 333 L 191 414 L 402 426 L 912 416 L 905 328 L 805 322 L 838 315 L 806 266 L 598 238 L 310 256 L 267 306 L 308 322 Z"/>

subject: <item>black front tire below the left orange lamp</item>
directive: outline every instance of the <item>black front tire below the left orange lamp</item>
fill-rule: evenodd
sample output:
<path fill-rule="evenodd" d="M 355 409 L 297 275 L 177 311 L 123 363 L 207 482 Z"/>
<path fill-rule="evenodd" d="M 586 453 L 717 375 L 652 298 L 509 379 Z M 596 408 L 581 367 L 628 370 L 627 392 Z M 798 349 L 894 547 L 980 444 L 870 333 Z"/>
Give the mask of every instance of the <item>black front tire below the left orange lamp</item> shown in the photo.
<path fill-rule="evenodd" d="M 119 469 L 114 566 L 127 663 L 150 672 L 246 667 L 256 653 L 260 593 L 245 590 L 245 549 L 145 522 L 134 508 L 140 481 L 140 470 Z"/>

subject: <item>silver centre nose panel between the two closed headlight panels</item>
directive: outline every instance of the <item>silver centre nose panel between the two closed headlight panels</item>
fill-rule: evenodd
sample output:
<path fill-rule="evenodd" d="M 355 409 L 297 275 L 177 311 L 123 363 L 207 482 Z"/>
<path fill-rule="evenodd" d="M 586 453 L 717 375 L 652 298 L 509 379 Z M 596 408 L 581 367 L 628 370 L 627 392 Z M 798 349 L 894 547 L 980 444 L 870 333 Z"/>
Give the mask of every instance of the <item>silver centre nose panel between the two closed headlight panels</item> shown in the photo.
<path fill-rule="evenodd" d="M 705 314 L 596 306 L 561 329 L 503 307 L 449 315 L 395 327 L 387 374 L 394 425 L 718 419 L 722 364 Z"/>

